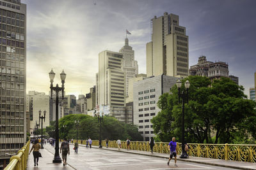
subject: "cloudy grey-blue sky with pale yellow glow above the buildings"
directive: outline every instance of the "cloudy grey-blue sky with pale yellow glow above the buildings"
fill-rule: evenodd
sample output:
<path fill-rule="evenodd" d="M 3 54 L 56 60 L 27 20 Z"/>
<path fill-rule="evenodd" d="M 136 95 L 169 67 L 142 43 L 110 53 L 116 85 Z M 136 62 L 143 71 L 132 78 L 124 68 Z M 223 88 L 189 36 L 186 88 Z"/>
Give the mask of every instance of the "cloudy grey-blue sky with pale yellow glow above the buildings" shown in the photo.
<path fill-rule="evenodd" d="M 227 62 L 244 93 L 253 87 L 256 71 L 256 1 L 254 0 L 22 0 L 27 4 L 27 92 L 48 94 L 51 69 L 54 85 L 67 73 L 66 94 L 86 94 L 95 85 L 98 54 L 118 52 L 125 30 L 146 73 L 150 20 L 164 12 L 179 15 L 189 36 L 189 66 L 200 55 Z"/>

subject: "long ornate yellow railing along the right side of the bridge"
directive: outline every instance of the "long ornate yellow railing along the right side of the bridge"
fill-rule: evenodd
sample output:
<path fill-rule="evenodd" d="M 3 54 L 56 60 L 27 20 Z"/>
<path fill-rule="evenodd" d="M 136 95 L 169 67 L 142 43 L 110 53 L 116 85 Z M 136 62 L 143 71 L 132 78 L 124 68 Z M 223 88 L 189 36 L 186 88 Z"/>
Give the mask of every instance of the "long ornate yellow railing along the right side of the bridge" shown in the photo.
<path fill-rule="evenodd" d="M 81 140 L 79 140 L 81 144 Z M 126 141 L 121 141 L 121 148 L 127 149 Z M 83 140 L 85 144 L 85 140 Z M 164 142 L 156 142 L 154 152 L 169 153 L 168 144 Z M 93 140 L 93 146 L 99 146 L 99 141 Z M 256 163 L 256 145 L 234 145 L 234 144 L 200 144 L 188 143 L 190 149 L 189 156 L 204 157 L 212 159 L 237 160 L 243 162 Z M 102 146 L 106 146 L 106 141 L 102 141 Z M 109 148 L 118 148 L 116 141 L 109 141 Z M 131 150 L 150 151 L 150 146 L 147 141 L 131 141 Z M 182 152 L 181 143 L 177 143 L 177 153 Z"/>

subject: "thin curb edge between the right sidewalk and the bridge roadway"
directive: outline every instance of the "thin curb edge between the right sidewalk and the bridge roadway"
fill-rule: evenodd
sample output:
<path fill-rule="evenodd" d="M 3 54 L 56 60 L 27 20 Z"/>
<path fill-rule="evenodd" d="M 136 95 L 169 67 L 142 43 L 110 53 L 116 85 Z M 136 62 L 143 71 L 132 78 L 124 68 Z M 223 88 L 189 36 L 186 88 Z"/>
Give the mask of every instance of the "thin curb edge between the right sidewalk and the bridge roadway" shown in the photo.
<path fill-rule="evenodd" d="M 70 144 L 74 145 L 73 143 L 70 143 Z M 83 145 L 80 144 L 80 146 L 83 146 Z M 83 147 L 85 147 L 85 145 Z M 97 148 L 97 149 L 102 149 L 102 150 L 111 150 L 111 151 L 115 151 L 115 152 L 124 152 L 124 153 L 137 154 L 137 155 L 143 155 L 143 156 L 149 156 L 149 157 L 159 157 L 159 158 L 166 158 L 166 159 L 169 158 L 168 156 L 164 156 L 164 155 L 148 155 L 146 153 L 136 153 L 136 152 L 123 151 L 123 150 L 112 150 L 111 148 L 99 148 L 96 146 L 92 146 L 92 147 Z M 200 162 L 200 161 L 189 160 L 189 159 L 177 158 L 177 160 L 184 161 L 184 162 L 193 162 L 196 164 L 205 164 L 205 165 L 210 165 L 210 166 L 228 167 L 228 168 L 232 168 L 232 169 L 252 170 L 252 168 L 247 168 L 247 167 L 237 167 L 237 166 L 231 166 L 231 165 L 216 164 L 216 163 L 211 163 L 211 162 Z"/>

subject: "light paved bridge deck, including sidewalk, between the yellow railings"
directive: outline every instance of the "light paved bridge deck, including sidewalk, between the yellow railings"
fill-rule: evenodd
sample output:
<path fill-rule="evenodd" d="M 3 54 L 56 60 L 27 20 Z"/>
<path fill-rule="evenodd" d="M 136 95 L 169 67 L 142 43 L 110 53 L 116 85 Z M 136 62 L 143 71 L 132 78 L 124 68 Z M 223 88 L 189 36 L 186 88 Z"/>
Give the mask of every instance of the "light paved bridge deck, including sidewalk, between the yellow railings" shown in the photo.
<path fill-rule="evenodd" d="M 92 149 L 79 145 L 78 154 L 74 153 L 72 144 L 70 145 L 70 155 L 67 158 L 67 166 L 62 164 L 52 164 L 54 157 L 54 147 L 47 144 L 41 150 L 43 158 L 40 158 L 39 165 L 34 167 L 33 155 L 29 155 L 28 170 L 31 169 L 256 169 L 255 163 L 225 161 L 218 159 L 205 159 L 189 157 L 189 159 L 178 159 L 178 167 L 167 166 L 168 154 L 149 153 L 134 150 L 121 150 L 117 148 Z M 218 166 L 218 167 L 216 167 Z"/>

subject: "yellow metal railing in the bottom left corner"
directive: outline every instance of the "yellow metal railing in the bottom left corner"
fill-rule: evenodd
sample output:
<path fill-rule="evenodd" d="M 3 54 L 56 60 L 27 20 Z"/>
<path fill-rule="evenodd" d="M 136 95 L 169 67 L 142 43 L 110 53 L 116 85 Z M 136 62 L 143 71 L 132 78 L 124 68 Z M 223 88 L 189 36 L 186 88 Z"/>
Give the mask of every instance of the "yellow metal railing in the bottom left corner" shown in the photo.
<path fill-rule="evenodd" d="M 26 170 L 30 140 L 18 151 L 17 155 L 10 158 L 10 163 L 4 170 Z"/>

